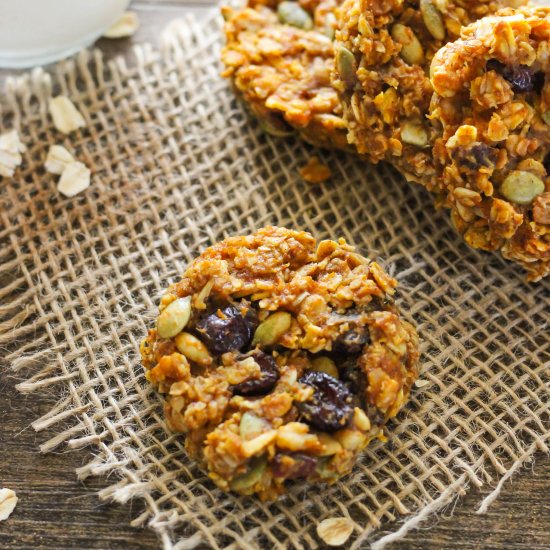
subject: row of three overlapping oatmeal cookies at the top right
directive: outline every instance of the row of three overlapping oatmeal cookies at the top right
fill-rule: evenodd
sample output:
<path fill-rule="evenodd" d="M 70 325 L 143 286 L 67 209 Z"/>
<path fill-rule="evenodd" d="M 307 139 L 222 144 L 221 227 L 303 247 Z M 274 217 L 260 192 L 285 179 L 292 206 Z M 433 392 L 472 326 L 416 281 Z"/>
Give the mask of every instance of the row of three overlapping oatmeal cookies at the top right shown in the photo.
<path fill-rule="evenodd" d="M 550 8 L 250 0 L 223 10 L 235 90 L 277 136 L 393 164 L 472 247 L 550 273 Z"/>

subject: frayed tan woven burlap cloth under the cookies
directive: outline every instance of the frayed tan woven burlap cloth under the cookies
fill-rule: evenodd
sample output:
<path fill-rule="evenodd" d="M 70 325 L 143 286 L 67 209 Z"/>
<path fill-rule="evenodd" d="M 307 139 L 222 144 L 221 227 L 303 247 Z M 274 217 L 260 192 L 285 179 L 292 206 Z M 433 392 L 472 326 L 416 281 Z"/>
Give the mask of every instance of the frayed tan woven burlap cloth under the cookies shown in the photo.
<path fill-rule="evenodd" d="M 316 548 L 324 518 L 349 516 L 355 548 L 402 536 L 472 485 L 493 492 L 548 451 L 549 281 L 466 247 L 430 196 L 387 166 L 324 153 L 333 177 L 301 181 L 312 149 L 266 137 L 219 74 L 218 19 L 175 24 L 161 47 L 106 63 L 98 52 L 8 83 L 2 131 L 28 151 L 0 181 L 0 349 L 28 381 L 57 392 L 34 422 L 60 445 L 89 447 L 84 479 L 107 476 L 102 499 L 143 499 L 135 525 L 165 548 Z M 87 127 L 64 137 L 47 114 L 70 96 Z M 63 143 L 93 170 L 63 198 L 42 167 Z M 422 339 L 424 384 L 352 475 L 297 483 L 274 503 L 225 495 L 168 433 L 139 363 L 162 289 L 218 239 L 266 224 L 343 236 L 380 256 Z M 382 538 L 381 538 L 382 537 Z"/>

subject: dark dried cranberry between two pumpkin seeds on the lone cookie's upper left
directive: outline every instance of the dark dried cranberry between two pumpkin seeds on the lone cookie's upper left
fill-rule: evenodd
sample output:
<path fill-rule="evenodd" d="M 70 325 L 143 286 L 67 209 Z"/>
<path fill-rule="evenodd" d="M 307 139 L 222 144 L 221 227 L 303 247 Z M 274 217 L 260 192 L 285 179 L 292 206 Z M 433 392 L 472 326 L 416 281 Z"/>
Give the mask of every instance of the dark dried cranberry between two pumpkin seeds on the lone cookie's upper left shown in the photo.
<path fill-rule="evenodd" d="M 220 316 L 216 310 L 197 323 L 204 343 L 214 353 L 241 350 L 250 342 L 258 326 L 256 311 L 249 308 L 243 316 L 235 306 L 227 306 L 221 313 Z"/>

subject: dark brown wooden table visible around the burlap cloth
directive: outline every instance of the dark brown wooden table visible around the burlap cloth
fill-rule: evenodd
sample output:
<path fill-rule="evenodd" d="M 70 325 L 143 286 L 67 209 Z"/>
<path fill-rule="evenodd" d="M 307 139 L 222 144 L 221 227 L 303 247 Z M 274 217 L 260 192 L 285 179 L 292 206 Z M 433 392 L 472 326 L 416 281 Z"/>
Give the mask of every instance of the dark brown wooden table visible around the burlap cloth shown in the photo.
<path fill-rule="evenodd" d="M 211 9 L 189 0 L 137 1 L 141 28 L 132 39 L 101 40 L 107 55 L 123 54 L 132 42 L 156 40 L 171 19 L 186 11 L 199 16 Z M 13 72 L 0 70 L 0 82 Z M 0 285 L 1 286 L 1 285 Z M 2 350 L 0 350 L 1 361 Z M 31 422 L 56 401 L 49 393 L 21 396 L 20 380 L 0 362 L 0 487 L 15 490 L 19 504 L 8 521 L 0 523 L 2 549 L 127 549 L 158 548 L 153 532 L 130 527 L 140 503 L 103 504 L 95 493 L 107 480 L 78 482 L 75 468 L 88 460 L 87 450 L 41 455 L 44 436 Z M 409 534 L 393 549 L 487 548 L 499 550 L 550 548 L 550 457 L 536 456 L 535 468 L 526 467 L 508 482 L 489 512 L 475 509 L 483 494 L 471 491 L 454 507 L 454 514 L 432 518 L 425 528 Z"/>

